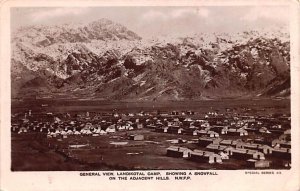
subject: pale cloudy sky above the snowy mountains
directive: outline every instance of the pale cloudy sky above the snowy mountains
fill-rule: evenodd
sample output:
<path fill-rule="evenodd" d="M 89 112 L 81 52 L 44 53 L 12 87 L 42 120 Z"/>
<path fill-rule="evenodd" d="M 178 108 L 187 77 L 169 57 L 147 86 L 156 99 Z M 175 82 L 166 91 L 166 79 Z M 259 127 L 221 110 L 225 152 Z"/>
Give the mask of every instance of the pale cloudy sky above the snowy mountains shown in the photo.
<path fill-rule="evenodd" d="M 142 37 L 234 32 L 289 25 L 284 6 L 11 8 L 11 27 L 89 23 L 107 18 Z"/>

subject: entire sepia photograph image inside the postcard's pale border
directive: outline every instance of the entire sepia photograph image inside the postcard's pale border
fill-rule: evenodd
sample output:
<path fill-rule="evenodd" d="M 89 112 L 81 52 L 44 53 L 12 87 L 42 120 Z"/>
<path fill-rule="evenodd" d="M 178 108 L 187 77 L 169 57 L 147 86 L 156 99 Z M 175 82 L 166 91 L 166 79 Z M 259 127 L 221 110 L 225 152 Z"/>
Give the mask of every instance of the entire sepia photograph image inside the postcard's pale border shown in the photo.
<path fill-rule="evenodd" d="M 291 168 L 288 6 L 10 12 L 12 171 Z"/>

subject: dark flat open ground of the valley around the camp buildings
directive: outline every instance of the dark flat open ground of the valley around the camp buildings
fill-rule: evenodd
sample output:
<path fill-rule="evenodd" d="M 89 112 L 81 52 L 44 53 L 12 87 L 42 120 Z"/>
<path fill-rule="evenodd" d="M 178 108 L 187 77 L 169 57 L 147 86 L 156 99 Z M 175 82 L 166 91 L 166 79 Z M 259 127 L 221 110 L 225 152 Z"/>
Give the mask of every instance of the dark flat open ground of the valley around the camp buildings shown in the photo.
<path fill-rule="evenodd" d="M 134 112 L 152 111 L 170 112 L 173 110 L 196 112 L 194 118 L 203 117 L 209 111 L 219 113 L 231 111 L 247 116 L 269 116 L 274 114 L 290 115 L 290 100 L 225 100 L 195 102 L 103 102 L 78 100 L 39 100 L 12 103 L 12 114 L 28 110 L 36 112 L 77 113 L 87 111 Z M 143 135 L 140 141 L 129 140 L 133 134 Z M 247 138 L 256 138 L 250 134 Z M 176 146 L 190 149 L 202 149 L 197 144 L 199 136 L 178 135 L 155 132 L 143 128 L 132 131 L 116 131 L 113 134 L 97 137 L 71 135 L 66 138 L 47 138 L 46 133 L 29 132 L 11 134 L 11 156 L 13 171 L 80 171 L 80 170 L 237 170 L 253 169 L 244 160 L 230 158 L 221 164 L 198 163 L 184 158 L 167 156 L 167 148 L 174 145 L 172 140 L 187 140 Z M 239 136 L 223 136 L 225 139 L 240 139 Z M 195 142 L 196 141 L 196 142 Z M 81 145 L 80 148 L 70 148 Z M 280 159 L 266 156 L 272 161 L 271 169 L 286 169 Z"/>

